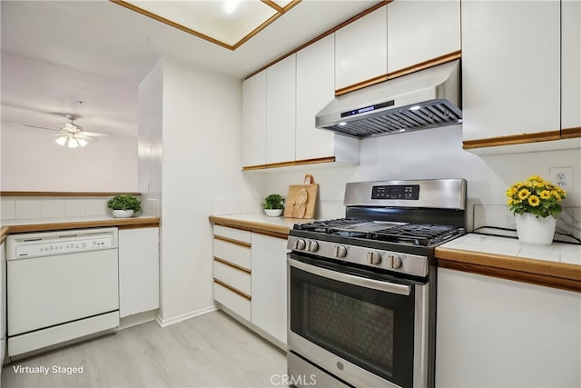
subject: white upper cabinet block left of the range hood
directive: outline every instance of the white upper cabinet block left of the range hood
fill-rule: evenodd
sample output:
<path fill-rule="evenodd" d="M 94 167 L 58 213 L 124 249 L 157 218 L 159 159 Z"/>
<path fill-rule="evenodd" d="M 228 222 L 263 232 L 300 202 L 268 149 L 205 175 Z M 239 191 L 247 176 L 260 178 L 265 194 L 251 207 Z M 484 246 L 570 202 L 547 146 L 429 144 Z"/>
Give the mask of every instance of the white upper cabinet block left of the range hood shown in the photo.
<path fill-rule="evenodd" d="M 335 97 L 334 39 L 329 35 L 244 81 L 242 167 L 359 163 L 358 139 L 315 127 L 315 115 Z"/>

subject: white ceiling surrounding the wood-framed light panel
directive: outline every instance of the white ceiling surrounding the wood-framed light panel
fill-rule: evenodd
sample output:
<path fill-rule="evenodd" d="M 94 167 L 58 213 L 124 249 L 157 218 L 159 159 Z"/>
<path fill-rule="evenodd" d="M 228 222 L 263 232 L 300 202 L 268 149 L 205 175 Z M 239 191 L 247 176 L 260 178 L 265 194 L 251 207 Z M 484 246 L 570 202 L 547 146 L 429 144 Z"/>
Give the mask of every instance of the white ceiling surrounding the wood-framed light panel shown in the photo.
<path fill-rule="evenodd" d="M 3 126 L 78 114 L 87 131 L 135 136 L 137 87 L 163 55 L 241 79 L 377 3 L 303 0 L 231 51 L 106 0 L 2 0 Z"/>

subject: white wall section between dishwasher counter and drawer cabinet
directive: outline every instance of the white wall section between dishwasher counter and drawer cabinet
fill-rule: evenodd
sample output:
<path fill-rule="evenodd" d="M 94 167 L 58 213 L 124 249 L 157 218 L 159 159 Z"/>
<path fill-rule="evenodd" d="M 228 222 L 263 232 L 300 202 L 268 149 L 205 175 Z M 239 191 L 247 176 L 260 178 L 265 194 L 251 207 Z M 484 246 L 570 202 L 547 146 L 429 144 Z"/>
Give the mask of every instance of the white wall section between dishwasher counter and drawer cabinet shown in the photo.
<path fill-rule="evenodd" d="M 260 196 L 241 171 L 241 82 L 162 63 L 162 323 L 213 308 L 212 203 Z"/>

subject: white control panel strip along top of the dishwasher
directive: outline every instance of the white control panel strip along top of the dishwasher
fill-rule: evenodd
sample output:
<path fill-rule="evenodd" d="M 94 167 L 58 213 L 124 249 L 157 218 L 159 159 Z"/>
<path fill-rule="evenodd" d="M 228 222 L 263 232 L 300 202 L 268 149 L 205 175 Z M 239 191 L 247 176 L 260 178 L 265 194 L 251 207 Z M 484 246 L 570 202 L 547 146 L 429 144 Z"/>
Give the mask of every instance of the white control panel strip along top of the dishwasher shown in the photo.
<path fill-rule="evenodd" d="M 7 260 L 117 248 L 117 228 L 10 235 Z"/>

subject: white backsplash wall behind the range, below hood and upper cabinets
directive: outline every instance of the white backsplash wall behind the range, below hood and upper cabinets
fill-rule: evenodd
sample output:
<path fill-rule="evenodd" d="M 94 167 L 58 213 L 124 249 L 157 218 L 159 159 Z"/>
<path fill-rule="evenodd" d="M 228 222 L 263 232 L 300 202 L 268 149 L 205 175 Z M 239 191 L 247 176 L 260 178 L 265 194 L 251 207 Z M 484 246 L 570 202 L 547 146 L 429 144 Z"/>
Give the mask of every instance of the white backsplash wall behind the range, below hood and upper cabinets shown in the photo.
<path fill-rule="evenodd" d="M 357 167 L 315 169 L 266 174 L 265 192 L 286 196 L 289 184 L 313 174 L 320 184 L 317 217 L 344 215 L 345 183 L 391 179 L 464 178 L 468 181 L 468 226 L 476 204 L 506 205 L 510 184 L 537 174 L 549 179 L 554 166 L 574 168 L 574 187 L 565 206 L 581 206 L 581 150 L 478 156 L 462 150 L 461 125 L 408 134 L 391 134 L 361 141 Z M 507 214 L 508 211 L 507 211 Z"/>

